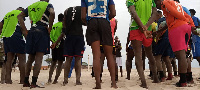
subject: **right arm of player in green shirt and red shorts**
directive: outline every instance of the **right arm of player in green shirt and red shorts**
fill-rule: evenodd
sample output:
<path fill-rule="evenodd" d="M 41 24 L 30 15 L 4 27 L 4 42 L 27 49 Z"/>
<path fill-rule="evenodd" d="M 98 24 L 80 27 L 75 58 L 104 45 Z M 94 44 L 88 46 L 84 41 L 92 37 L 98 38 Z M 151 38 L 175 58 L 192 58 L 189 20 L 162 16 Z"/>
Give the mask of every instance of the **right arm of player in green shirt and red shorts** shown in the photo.
<path fill-rule="evenodd" d="M 155 7 L 152 8 L 152 14 L 151 17 L 149 18 L 149 21 L 145 25 L 147 28 L 155 21 L 156 19 L 156 14 L 157 14 L 157 9 Z"/>

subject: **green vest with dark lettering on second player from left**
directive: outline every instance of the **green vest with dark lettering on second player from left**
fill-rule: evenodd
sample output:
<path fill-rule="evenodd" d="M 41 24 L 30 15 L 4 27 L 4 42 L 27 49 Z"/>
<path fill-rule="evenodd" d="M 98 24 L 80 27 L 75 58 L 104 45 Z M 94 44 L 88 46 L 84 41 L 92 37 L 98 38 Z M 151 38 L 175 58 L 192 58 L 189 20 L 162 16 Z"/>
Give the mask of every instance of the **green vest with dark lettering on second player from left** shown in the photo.
<path fill-rule="evenodd" d="M 41 20 L 47 6 L 48 3 L 45 1 L 38 1 L 28 6 L 29 17 L 30 20 L 33 21 L 33 24 L 36 24 L 36 22 Z"/>

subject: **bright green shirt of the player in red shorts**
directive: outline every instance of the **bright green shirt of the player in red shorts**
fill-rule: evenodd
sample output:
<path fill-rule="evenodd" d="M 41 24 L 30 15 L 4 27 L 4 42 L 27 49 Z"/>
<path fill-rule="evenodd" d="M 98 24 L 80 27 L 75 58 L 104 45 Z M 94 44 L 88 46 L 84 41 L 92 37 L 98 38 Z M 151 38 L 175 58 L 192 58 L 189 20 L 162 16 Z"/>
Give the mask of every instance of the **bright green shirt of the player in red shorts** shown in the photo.
<path fill-rule="evenodd" d="M 134 5 L 136 9 L 136 13 L 139 16 L 143 25 L 146 25 L 151 17 L 152 7 L 156 7 L 154 0 L 127 0 L 126 6 L 129 8 L 130 6 Z M 139 29 L 138 24 L 133 20 L 130 30 Z M 151 30 L 151 26 L 148 28 Z"/>

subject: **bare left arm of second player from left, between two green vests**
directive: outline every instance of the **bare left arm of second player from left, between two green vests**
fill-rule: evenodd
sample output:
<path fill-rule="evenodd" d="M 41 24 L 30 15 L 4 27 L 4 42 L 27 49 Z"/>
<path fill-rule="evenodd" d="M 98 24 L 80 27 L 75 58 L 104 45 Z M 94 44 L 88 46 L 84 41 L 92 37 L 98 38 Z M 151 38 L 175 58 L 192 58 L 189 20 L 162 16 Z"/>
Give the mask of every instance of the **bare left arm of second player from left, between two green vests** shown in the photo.
<path fill-rule="evenodd" d="M 21 31 L 22 31 L 22 34 L 24 35 L 24 37 L 26 38 L 27 34 L 28 34 L 28 30 L 25 26 L 25 23 L 24 23 L 24 18 L 26 17 L 26 14 L 24 12 L 21 12 L 17 18 L 19 20 L 19 24 L 20 24 L 20 28 L 21 28 Z"/>

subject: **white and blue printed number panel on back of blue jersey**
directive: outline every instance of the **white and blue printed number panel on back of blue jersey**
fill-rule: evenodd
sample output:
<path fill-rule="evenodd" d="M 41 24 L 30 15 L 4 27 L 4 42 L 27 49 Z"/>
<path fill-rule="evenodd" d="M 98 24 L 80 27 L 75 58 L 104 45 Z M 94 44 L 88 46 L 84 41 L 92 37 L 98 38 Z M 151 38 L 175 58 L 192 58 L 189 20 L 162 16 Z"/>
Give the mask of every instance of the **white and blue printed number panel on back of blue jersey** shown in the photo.
<path fill-rule="evenodd" d="M 107 0 L 88 0 L 88 16 L 106 18 Z"/>

